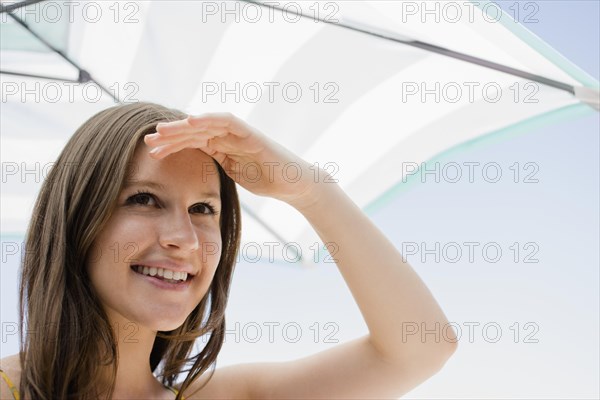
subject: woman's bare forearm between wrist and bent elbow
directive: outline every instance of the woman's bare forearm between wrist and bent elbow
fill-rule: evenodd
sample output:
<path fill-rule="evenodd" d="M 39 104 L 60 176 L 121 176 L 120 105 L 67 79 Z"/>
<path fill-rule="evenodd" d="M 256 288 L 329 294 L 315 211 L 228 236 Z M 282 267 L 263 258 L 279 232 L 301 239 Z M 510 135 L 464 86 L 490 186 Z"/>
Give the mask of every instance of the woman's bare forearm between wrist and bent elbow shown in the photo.
<path fill-rule="evenodd" d="M 443 363 L 456 348 L 454 329 L 402 255 L 335 183 L 312 188 L 298 210 L 324 243 L 356 300 L 373 346 L 391 362 Z"/>

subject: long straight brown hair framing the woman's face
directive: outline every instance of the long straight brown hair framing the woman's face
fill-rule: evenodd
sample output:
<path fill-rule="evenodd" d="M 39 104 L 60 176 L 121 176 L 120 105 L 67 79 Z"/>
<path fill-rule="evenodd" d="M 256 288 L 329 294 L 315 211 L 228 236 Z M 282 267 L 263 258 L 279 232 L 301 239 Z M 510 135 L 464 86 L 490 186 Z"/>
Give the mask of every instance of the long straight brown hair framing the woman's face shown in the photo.
<path fill-rule="evenodd" d="M 112 214 L 136 147 L 146 134 L 156 131 L 158 122 L 185 117 L 152 103 L 103 110 L 75 132 L 50 170 L 25 237 L 19 297 L 23 396 L 112 396 L 116 341 L 85 265 L 92 243 Z M 196 378 L 216 366 L 225 337 L 225 308 L 241 220 L 235 182 L 218 164 L 217 169 L 223 247 L 215 276 L 185 322 L 157 334 L 149 360 L 163 384 L 172 386 L 187 372 L 177 400 Z M 203 335 L 209 335 L 208 342 L 192 355 L 195 339 Z M 96 380 L 102 365 L 112 366 L 108 388 L 99 388 Z"/>

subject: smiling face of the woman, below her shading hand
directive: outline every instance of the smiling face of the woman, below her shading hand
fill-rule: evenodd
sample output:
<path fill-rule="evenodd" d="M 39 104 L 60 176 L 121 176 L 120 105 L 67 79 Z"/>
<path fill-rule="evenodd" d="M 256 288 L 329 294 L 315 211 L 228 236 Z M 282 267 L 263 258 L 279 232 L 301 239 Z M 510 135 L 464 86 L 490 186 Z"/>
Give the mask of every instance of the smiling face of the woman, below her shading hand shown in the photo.
<path fill-rule="evenodd" d="M 113 322 L 169 331 L 202 300 L 219 263 L 220 183 L 214 161 L 200 150 L 162 160 L 148 150 L 143 142 L 136 149 L 88 271 Z"/>

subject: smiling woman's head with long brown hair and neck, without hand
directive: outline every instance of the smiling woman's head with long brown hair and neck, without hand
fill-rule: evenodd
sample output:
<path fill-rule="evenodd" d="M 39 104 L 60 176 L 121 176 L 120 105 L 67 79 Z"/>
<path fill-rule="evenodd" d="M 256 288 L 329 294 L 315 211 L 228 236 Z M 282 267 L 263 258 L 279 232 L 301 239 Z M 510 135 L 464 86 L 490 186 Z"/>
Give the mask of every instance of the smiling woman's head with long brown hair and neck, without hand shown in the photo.
<path fill-rule="evenodd" d="M 172 395 L 152 376 L 160 361 L 168 385 L 193 362 L 186 387 L 216 360 L 240 235 L 235 184 L 198 150 L 157 161 L 143 142 L 159 121 L 185 117 L 152 104 L 100 112 L 69 140 L 44 182 L 21 282 L 28 335 L 20 389 L 28 398 Z M 163 190 L 147 193 L 156 185 L 144 179 Z M 200 242 L 211 251 L 194 251 Z M 188 279 L 168 283 L 133 264 Z M 203 334 L 211 334 L 206 347 L 188 359 Z M 146 368 L 136 364 L 140 357 Z"/>

